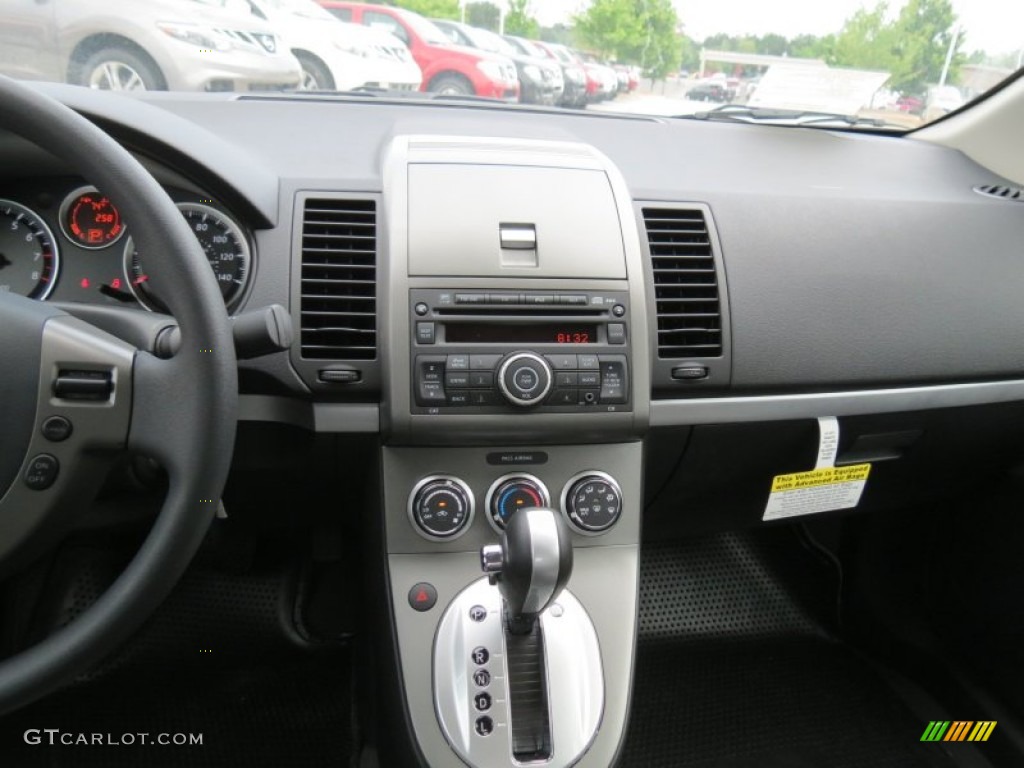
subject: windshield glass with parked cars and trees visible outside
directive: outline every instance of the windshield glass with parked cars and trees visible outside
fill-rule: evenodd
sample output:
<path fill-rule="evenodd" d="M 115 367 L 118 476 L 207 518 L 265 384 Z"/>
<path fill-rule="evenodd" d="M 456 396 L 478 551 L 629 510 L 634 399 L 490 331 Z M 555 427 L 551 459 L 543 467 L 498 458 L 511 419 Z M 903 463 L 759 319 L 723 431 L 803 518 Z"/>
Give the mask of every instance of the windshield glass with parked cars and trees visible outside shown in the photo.
<path fill-rule="evenodd" d="M 204 6 L 199 12 L 198 5 Z M 535 100 L 552 108 L 804 125 L 838 117 L 850 126 L 912 129 L 983 96 L 1024 63 L 1019 0 L 397 0 L 392 6 L 342 0 L 5 2 L 0 74 L 110 89 L 400 85 L 494 98 L 496 105 Z M 435 61 L 417 46 L 449 46 L 451 39 L 420 13 L 463 23 L 474 45 L 488 51 L 551 55 L 566 78 L 550 92 L 528 82 L 515 89 L 508 72 L 453 63 L 445 77 L 424 79 Z M 285 23 L 286 14 L 341 18 L 365 40 L 321 51 L 316 41 L 301 39 L 300 28 Z M 409 50 L 395 42 L 400 53 L 380 51 L 380 30 Z M 517 39 L 513 44 L 501 35 Z M 342 53 L 366 60 L 346 65 Z M 581 60 L 588 62 L 585 74 Z M 407 71 L 400 77 L 399 67 Z M 481 84 L 481 72 L 489 83 Z"/>

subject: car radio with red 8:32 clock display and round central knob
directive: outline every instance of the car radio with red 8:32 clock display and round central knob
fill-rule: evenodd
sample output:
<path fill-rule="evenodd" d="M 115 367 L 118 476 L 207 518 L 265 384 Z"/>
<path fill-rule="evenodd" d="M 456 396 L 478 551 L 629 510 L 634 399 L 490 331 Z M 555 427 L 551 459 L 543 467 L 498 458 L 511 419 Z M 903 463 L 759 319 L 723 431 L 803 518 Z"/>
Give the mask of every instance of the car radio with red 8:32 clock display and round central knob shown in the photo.
<path fill-rule="evenodd" d="M 624 412 L 626 291 L 410 291 L 413 413 Z"/>

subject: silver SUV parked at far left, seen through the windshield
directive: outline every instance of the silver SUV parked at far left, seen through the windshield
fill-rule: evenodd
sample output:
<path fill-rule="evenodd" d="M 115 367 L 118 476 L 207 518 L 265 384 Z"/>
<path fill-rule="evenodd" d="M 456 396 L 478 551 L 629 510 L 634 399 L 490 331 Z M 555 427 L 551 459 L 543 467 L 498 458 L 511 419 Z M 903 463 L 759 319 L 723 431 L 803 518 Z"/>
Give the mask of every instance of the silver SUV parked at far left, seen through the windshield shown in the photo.
<path fill-rule="evenodd" d="M 295 56 L 232 2 L 13 0 L 0 15 L 0 73 L 113 90 L 298 87 Z"/>

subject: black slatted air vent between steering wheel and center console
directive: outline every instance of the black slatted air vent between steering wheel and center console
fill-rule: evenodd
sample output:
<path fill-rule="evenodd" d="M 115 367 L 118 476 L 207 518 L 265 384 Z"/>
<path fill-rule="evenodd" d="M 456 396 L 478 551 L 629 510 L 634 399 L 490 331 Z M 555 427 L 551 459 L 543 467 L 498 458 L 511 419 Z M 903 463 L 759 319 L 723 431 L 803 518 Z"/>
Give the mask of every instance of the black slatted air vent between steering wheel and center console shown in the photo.
<path fill-rule="evenodd" d="M 302 356 L 377 356 L 377 204 L 306 200 L 302 220 Z"/>

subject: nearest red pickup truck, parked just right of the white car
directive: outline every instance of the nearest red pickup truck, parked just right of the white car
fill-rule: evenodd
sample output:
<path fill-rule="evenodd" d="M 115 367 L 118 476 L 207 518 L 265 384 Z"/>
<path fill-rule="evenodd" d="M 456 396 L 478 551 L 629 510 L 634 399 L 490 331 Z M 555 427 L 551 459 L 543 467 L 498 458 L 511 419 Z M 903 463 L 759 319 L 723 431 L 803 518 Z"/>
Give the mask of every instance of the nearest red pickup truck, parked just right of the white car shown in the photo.
<path fill-rule="evenodd" d="M 433 24 L 403 8 L 369 3 L 319 0 L 343 22 L 377 27 L 409 46 L 423 71 L 421 90 L 519 100 L 515 63 L 494 53 L 454 45 Z"/>

